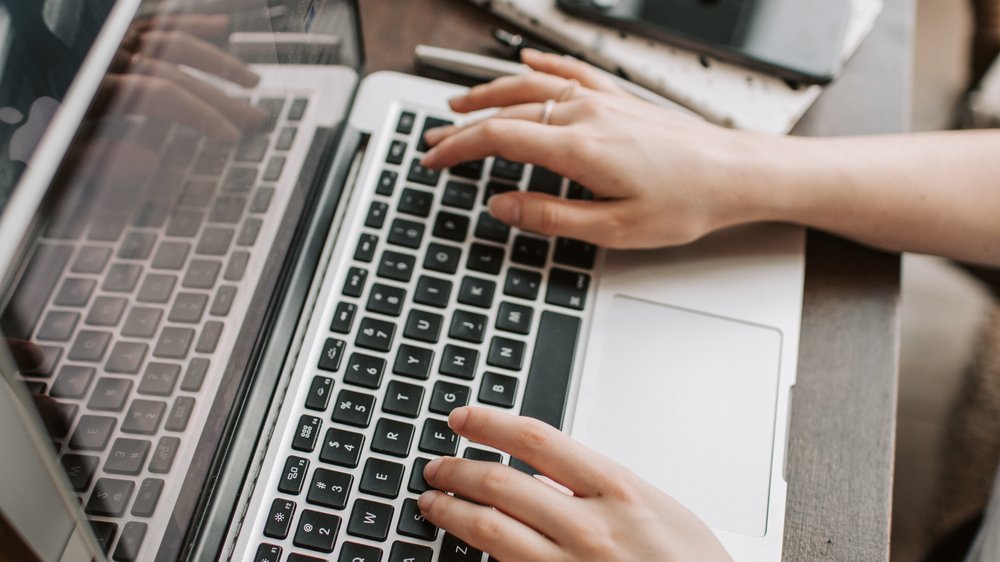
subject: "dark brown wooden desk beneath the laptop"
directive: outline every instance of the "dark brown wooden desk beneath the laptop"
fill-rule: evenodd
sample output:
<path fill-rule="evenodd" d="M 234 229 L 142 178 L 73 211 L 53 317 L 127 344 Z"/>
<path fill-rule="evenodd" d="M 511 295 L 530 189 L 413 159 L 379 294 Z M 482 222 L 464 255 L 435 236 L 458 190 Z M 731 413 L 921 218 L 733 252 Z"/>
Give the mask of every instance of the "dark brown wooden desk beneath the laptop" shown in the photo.
<path fill-rule="evenodd" d="M 875 30 L 796 134 L 909 128 L 913 0 Z M 500 22 L 463 0 L 362 0 L 367 68 L 414 72 L 428 43 L 485 54 Z M 509 27 L 509 26 L 507 26 Z M 788 454 L 786 560 L 888 560 L 899 257 L 812 232 Z"/>

